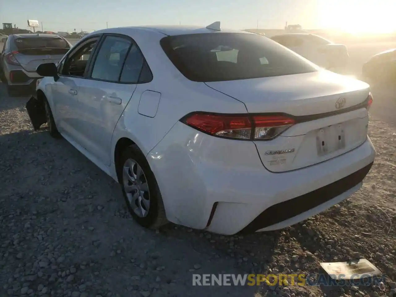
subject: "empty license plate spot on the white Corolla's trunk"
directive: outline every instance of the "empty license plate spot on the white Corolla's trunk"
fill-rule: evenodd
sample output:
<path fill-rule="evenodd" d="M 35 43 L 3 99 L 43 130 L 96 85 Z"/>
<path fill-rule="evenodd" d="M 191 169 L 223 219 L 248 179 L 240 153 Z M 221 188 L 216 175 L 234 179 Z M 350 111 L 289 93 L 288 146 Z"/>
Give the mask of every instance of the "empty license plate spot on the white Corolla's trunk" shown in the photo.
<path fill-rule="evenodd" d="M 345 148 L 345 128 L 343 124 L 328 126 L 316 132 L 318 156 L 324 156 Z"/>

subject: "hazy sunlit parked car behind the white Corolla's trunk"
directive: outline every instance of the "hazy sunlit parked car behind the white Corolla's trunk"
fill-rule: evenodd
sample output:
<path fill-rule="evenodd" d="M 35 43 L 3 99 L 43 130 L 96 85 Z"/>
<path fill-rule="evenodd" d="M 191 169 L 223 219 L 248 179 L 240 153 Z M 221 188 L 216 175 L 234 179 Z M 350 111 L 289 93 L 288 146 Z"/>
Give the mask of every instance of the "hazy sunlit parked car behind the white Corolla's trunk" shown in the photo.
<path fill-rule="evenodd" d="M 335 44 L 319 35 L 289 33 L 271 39 L 325 69 L 343 70 L 348 62 L 348 49 L 344 44 Z"/>

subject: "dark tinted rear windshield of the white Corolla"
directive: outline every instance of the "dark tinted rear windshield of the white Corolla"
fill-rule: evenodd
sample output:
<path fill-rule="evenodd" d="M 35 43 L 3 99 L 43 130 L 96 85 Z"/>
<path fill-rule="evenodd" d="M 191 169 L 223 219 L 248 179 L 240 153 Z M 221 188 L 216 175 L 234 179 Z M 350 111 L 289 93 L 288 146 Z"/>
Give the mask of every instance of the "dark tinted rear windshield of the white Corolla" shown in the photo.
<path fill-rule="evenodd" d="M 189 80 L 216 82 L 317 71 L 273 40 L 258 34 L 203 33 L 168 36 L 162 49 Z"/>

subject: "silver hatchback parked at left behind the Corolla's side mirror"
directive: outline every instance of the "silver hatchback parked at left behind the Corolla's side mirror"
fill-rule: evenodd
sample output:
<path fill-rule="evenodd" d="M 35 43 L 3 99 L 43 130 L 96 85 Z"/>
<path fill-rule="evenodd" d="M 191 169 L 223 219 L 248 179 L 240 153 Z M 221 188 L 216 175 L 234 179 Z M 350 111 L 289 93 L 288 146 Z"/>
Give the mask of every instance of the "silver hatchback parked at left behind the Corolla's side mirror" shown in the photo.
<path fill-rule="evenodd" d="M 0 53 L 0 79 L 8 95 L 28 95 L 35 91 L 41 78 L 36 68 L 43 63 L 57 63 L 72 47 L 55 34 L 12 34 Z"/>

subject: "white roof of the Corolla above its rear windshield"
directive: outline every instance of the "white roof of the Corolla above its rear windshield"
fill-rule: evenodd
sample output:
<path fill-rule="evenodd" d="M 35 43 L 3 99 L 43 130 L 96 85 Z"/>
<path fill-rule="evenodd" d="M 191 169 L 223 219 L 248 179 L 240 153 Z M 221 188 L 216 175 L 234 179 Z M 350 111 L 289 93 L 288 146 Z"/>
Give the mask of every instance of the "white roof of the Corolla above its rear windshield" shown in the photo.
<path fill-rule="evenodd" d="M 117 31 L 123 31 L 131 29 L 133 30 L 145 30 L 147 32 L 157 32 L 157 33 L 162 33 L 164 35 L 168 36 L 174 36 L 174 35 L 185 35 L 185 34 L 198 34 L 198 33 L 214 33 L 214 32 L 229 32 L 229 33 L 246 33 L 246 34 L 255 34 L 252 32 L 246 32 L 242 30 L 232 30 L 232 29 L 223 29 L 217 31 L 217 30 L 212 30 L 208 29 L 206 27 L 201 27 L 201 26 L 186 26 L 186 25 L 152 25 L 152 26 L 137 26 L 137 27 L 118 27 L 118 28 L 110 28 L 110 29 L 103 29 L 103 30 L 98 30 L 95 32 L 92 32 L 94 34 L 98 33 L 114 33 Z M 92 34 L 90 33 L 90 34 Z"/>

